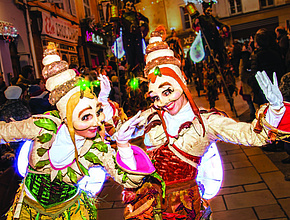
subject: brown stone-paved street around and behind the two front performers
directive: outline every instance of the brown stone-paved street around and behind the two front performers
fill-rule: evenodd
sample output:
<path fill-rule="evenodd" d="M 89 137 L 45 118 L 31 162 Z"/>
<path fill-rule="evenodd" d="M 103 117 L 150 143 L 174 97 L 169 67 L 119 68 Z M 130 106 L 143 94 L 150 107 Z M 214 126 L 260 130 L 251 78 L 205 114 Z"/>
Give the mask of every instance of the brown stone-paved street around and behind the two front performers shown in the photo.
<path fill-rule="evenodd" d="M 239 84 L 238 84 L 239 88 Z M 190 86 L 196 104 L 209 108 L 204 94 L 197 97 L 194 87 Z M 225 111 L 236 120 L 248 121 L 248 106 L 241 96 L 234 97 L 239 117 L 230 110 L 223 94 L 219 95 L 216 107 Z M 284 174 L 278 167 L 280 160 L 286 157 L 279 153 L 273 163 L 267 154 L 258 147 L 244 147 L 228 143 L 218 143 L 223 162 L 224 180 L 218 195 L 210 200 L 213 220 L 287 220 L 290 218 L 290 182 L 284 180 Z M 275 152 L 276 154 L 276 152 Z M 279 164 L 280 163 L 280 164 Z M 277 167 L 278 165 L 278 167 Z M 283 165 L 290 171 L 290 165 Z M 287 167 L 288 166 L 288 167 Z M 113 181 L 105 184 L 99 194 L 99 220 L 123 219 L 121 201 L 122 187 Z"/>

